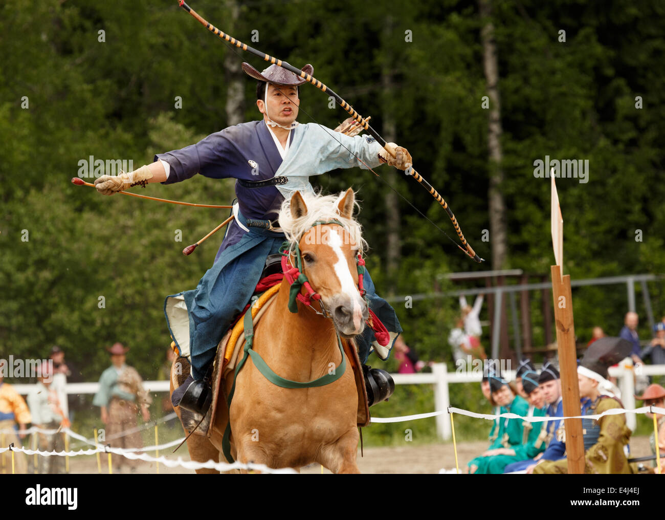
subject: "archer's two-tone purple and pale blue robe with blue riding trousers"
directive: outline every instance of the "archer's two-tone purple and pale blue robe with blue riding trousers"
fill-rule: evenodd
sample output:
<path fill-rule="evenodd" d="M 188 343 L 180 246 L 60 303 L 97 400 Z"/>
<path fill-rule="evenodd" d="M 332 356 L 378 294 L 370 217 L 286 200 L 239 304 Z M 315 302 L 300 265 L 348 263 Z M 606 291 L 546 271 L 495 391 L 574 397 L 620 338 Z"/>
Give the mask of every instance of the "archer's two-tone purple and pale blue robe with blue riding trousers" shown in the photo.
<path fill-rule="evenodd" d="M 286 184 L 264 188 L 246 188 L 237 181 L 237 218 L 229 224 L 215 263 L 196 289 L 166 297 L 164 313 L 169 332 L 181 355 L 190 353 L 195 379 L 203 378 L 219 340 L 251 299 L 265 259 L 278 253 L 285 240 L 283 233 L 247 227 L 247 219 L 274 221 L 286 197 L 298 190 L 313 192 L 309 176 L 336 168 L 365 168 L 356 156 L 370 167 L 380 164 L 377 154 L 381 147 L 369 136 L 351 138 L 319 124 L 300 124 L 291 130 L 289 139 L 289 150 L 282 159 L 265 122 L 253 121 L 225 128 L 197 144 L 154 158 L 170 166 L 164 184 L 180 182 L 197 173 L 251 182 L 275 176 L 288 179 Z M 377 350 L 382 358 L 387 358 L 402 328 L 392 307 L 376 295 L 369 273 L 364 277 L 364 289 L 370 308 L 391 332 L 388 348 Z M 363 362 L 375 340 L 374 331 L 368 327 L 356 338 Z"/>

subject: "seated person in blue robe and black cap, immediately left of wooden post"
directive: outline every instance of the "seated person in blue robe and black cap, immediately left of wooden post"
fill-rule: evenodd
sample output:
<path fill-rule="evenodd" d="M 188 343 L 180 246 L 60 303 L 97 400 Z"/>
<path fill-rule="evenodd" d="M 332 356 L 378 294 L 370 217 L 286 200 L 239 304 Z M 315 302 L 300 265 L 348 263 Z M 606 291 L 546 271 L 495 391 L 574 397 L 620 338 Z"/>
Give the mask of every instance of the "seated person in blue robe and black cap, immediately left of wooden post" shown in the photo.
<path fill-rule="evenodd" d="M 561 376 L 559 370 L 551 362 L 543 365 L 538 376 L 538 387 L 545 403 L 547 417 L 563 417 L 563 399 L 561 398 Z M 566 444 L 563 419 L 543 422 L 539 428 L 536 443 L 538 448 L 547 446 L 541 454 L 531 455 L 533 458 L 508 464 L 503 471 L 513 473 L 516 471 L 531 471 L 533 466 L 541 460 L 559 460 L 565 456 Z M 531 468 L 531 469 L 529 469 Z"/>

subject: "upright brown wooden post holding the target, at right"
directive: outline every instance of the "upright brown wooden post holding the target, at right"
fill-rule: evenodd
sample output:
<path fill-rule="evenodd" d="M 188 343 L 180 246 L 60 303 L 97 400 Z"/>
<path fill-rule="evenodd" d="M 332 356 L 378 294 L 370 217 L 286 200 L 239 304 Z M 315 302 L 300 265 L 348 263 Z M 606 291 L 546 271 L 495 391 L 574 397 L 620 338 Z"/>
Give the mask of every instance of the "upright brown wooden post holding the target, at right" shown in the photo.
<path fill-rule="evenodd" d="M 579 416 L 581 413 L 580 390 L 577 383 L 577 350 L 575 350 L 571 277 L 570 275 L 565 275 L 562 279 L 561 267 L 559 265 L 553 265 L 551 269 L 554 317 L 557 325 L 557 344 L 559 346 L 559 372 L 561 372 L 563 415 L 565 417 Z M 585 452 L 582 436 L 582 420 L 566 419 L 565 432 L 568 473 L 584 473 Z"/>

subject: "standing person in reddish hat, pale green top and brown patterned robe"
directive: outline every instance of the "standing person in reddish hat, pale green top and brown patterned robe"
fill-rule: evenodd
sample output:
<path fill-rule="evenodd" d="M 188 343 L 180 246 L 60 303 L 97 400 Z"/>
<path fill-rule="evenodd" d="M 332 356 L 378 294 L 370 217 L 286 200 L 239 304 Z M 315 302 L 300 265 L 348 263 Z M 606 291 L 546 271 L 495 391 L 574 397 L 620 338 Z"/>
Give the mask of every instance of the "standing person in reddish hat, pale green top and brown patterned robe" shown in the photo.
<path fill-rule="evenodd" d="M 150 420 L 148 406 L 152 399 L 143 388 L 143 380 L 135 368 L 125 364 L 125 354 L 129 348 L 116 343 L 107 348 L 111 354 L 111 366 L 102 372 L 99 378 L 99 391 L 94 395 L 92 404 L 101 409 L 102 422 L 106 425 L 106 440 L 112 448 L 142 448 L 141 432 L 136 432 L 136 414 L 138 406 L 144 421 Z M 130 431 L 125 434 L 124 432 Z M 126 463 L 132 472 L 138 463 L 122 455 L 112 454 L 113 465 L 120 471 Z"/>

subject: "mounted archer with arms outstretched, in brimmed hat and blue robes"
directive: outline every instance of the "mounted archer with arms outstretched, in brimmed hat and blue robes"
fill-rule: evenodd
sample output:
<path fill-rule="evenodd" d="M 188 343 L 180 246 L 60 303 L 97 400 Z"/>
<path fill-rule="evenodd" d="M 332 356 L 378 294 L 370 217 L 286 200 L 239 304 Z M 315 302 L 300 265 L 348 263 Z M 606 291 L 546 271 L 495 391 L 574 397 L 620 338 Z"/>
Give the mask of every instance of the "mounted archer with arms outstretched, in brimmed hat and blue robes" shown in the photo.
<path fill-rule="evenodd" d="M 203 415 L 210 404 L 207 374 L 217 344 L 251 299 L 267 257 L 278 254 L 285 239 L 275 220 L 285 197 L 297 191 L 312 193 L 310 175 L 386 163 L 406 170 L 412 161 L 408 151 L 394 143 L 386 145 L 394 152 L 393 157 L 369 136 L 349 137 L 319 124 L 296 122 L 299 85 L 305 79 L 293 72 L 277 65 L 258 72 L 247 63 L 243 63 L 243 70 L 259 81 L 256 104 L 263 120 L 229 126 L 182 150 L 157 154 L 152 164 L 134 172 L 102 176 L 94 183 L 98 192 L 112 195 L 137 184 L 180 182 L 197 173 L 236 179 L 235 219 L 227 227 L 213 266 L 196 289 L 171 295 L 165 303 L 176 346 L 182 353 L 182 346 L 188 344 L 192 358 L 192 372 L 172 395 L 173 404 Z M 313 74 L 311 65 L 301 70 Z M 271 233 L 251 233 L 252 227 Z M 402 332 L 392 307 L 374 292 L 368 273 L 364 289 L 370 309 L 390 332 L 390 340 L 382 346 L 374 330 L 364 328 L 356 336 L 363 363 L 372 350 L 380 358 L 388 358 L 395 338 Z M 388 398 L 392 393 L 388 388 L 394 388 L 384 370 L 365 370 L 365 382 L 371 404 Z"/>

